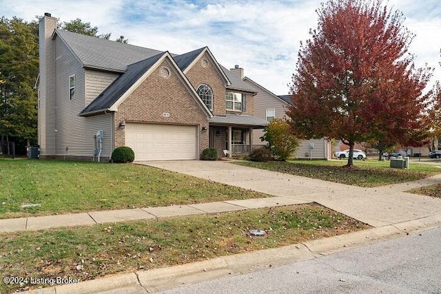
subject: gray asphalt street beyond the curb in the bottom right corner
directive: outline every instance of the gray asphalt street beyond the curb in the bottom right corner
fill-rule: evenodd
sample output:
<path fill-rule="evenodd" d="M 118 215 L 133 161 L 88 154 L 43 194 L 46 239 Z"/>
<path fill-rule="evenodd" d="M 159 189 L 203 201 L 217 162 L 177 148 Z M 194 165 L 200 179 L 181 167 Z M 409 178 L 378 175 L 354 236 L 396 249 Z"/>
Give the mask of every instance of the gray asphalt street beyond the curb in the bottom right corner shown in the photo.
<path fill-rule="evenodd" d="M 161 293 L 441 293 L 441 229 Z"/>

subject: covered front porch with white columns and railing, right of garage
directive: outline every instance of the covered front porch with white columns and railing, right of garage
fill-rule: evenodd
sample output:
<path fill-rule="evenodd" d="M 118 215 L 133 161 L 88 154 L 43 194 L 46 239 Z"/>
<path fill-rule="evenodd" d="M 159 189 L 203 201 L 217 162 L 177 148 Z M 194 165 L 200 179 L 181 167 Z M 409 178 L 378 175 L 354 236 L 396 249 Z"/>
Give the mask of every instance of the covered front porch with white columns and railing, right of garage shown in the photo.
<path fill-rule="evenodd" d="M 209 122 L 209 147 L 216 148 L 220 157 L 247 156 L 253 149 L 266 146 L 253 142 L 253 129 L 266 125 L 266 120 L 255 116 L 215 116 Z"/>

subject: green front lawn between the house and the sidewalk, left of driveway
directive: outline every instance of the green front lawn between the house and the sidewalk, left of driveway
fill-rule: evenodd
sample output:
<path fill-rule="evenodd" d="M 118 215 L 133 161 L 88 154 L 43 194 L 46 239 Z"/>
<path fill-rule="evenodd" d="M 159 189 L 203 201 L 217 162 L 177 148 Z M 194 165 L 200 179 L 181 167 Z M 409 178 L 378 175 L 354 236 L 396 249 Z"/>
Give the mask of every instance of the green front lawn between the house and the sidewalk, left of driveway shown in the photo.
<path fill-rule="evenodd" d="M 267 195 L 143 165 L 0 159 L 0 218 L 261 197 Z"/>

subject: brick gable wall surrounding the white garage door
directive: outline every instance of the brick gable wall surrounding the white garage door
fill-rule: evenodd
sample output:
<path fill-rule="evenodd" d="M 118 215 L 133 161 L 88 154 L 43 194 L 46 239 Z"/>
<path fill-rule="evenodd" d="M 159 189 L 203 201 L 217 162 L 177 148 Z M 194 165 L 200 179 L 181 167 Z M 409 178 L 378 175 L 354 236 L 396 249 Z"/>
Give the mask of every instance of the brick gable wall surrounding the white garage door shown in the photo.
<path fill-rule="evenodd" d="M 161 75 L 164 67 L 170 72 L 167 78 Z M 170 117 L 163 117 L 164 112 Z M 121 121 L 197 125 L 199 152 L 208 147 L 208 132 L 201 130 L 202 127 L 208 129 L 207 114 L 168 59 L 119 105 L 114 114 L 115 147 L 125 145 L 125 129 L 119 129 Z"/>

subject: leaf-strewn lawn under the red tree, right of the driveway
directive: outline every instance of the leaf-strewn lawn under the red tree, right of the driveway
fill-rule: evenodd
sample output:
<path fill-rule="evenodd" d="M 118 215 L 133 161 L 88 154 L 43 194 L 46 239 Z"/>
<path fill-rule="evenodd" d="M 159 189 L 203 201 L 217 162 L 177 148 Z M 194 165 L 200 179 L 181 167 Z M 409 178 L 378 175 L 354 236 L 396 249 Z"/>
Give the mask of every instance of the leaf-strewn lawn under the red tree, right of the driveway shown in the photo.
<path fill-rule="evenodd" d="M 285 174 L 304 176 L 329 182 L 338 182 L 358 187 L 378 187 L 382 185 L 410 182 L 441 174 L 441 169 L 431 165 L 411 162 L 409 169 L 391 169 L 389 161 L 354 160 L 358 169 L 343 167 L 347 160 L 293 160 L 289 162 L 236 162 L 238 165 L 268 169 Z"/>

